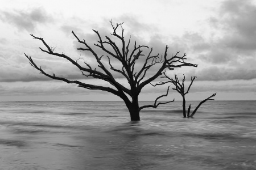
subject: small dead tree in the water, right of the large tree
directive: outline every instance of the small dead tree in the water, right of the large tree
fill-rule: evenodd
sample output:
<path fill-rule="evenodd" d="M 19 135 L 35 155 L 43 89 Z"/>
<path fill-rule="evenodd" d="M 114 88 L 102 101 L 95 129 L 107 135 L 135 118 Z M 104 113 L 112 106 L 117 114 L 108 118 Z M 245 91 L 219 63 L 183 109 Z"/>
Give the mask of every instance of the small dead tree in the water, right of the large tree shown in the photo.
<path fill-rule="evenodd" d="M 194 114 L 196 113 L 197 109 L 199 109 L 199 107 L 201 106 L 201 104 L 205 103 L 205 101 L 207 100 L 214 100 L 214 99 L 210 99 L 214 96 L 216 96 L 216 93 L 213 94 L 212 96 L 208 97 L 207 99 L 204 99 L 203 101 L 201 101 L 199 103 L 199 105 L 197 105 L 196 109 L 193 111 L 192 114 L 190 114 L 190 109 L 191 109 L 191 104 L 189 105 L 188 107 L 188 113 L 186 114 L 186 108 L 185 108 L 185 104 L 186 104 L 186 100 L 185 100 L 185 95 L 188 94 L 192 84 L 193 84 L 193 81 L 196 79 L 196 76 L 191 76 L 191 83 L 189 84 L 188 86 L 188 89 L 187 91 L 185 91 L 185 87 L 184 87 L 184 82 L 185 82 L 185 75 L 183 74 L 183 79 L 181 80 L 182 82 L 180 82 L 179 78 L 177 77 L 177 75 L 175 74 L 175 79 L 172 79 L 170 78 L 168 75 L 166 75 L 166 73 L 164 72 L 163 73 L 164 76 L 162 76 L 162 78 L 167 78 L 168 81 L 167 82 L 160 82 L 160 83 L 156 83 L 155 85 L 152 85 L 152 86 L 157 86 L 157 85 L 163 85 L 163 84 L 166 84 L 166 83 L 171 83 L 171 84 L 174 84 L 175 88 L 172 88 L 173 90 L 176 90 L 181 96 L 182 96 L 182 99 L 183 99 L 183 103 L 182 103 L 182 107 L 183 107 L 183 117 L 193 117 Z"/>

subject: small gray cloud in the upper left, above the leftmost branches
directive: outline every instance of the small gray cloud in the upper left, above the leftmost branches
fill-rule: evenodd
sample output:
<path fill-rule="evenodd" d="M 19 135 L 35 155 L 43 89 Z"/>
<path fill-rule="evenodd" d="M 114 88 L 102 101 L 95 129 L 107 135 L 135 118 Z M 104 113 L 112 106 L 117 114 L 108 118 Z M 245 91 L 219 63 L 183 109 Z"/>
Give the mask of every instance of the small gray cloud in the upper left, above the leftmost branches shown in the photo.
<path fill-rule="evenodd" d="M 35 8 L 30 11 L 14 10 L 0 11 L 3 22 L 14 25 L 19 31 L 32 32 L 38 24 L 52 22 L 52 16 L 48 15 L 43 8 Z"/>

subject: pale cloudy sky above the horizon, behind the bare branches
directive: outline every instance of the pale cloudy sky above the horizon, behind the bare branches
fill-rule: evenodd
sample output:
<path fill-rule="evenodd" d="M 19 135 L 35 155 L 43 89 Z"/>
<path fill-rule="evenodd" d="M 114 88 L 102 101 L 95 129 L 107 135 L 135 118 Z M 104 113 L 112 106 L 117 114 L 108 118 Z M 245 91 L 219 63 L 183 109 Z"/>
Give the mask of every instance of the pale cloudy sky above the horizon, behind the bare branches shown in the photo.
<path fill-rule="evenodd" d="M 86 78 L 65 59 L 43 53 L 39 47 L 45 49 L 45 46 L 30 34 L 42 37 L 56 52 L 73 59 L 81 57 L 97 67 L 89 53 L 77 50 L 81 45 L 71 32 L 100 54 L 100 49 L 93 45 L 98 38 L 92 29 L 102 37 L 111 36 L 111 19 L 113 23 L 123 22 L 125 37 L 131 36 L 133 42 L 152 47 L 154 54 L 163 54 L 168 45 L 168 56 L 186 53 L 188 62 L 199 65 L 167 71 L 171 77 L 177 74 L 182 78 L 184 74 L 187 87 L 190 77 L 197 76 L 187 100 L 203 100 L 215 92 L 216 100 L 256 100 L 255 18 L 256 1 L 250 0 L 2 0 L 0 101 L 121 100 L 108 92 L 52 80 L 40 74 L 24 56 L 24 53 L 31 56 L 49 74 L 109 86 L 101 80 Z M 118 63 L 113 61 L 113 65 Z M 156 70 L 151 69 L 147 76 Z M 127 85 L 122 76 L 115 74 L 115 78 Z M 148 85 L 139 99 L 155 100 L 166 90 L 167 86 Z M 181 96 L 170 90 L 162 100 L 174 98 L 180 100 Z"/>

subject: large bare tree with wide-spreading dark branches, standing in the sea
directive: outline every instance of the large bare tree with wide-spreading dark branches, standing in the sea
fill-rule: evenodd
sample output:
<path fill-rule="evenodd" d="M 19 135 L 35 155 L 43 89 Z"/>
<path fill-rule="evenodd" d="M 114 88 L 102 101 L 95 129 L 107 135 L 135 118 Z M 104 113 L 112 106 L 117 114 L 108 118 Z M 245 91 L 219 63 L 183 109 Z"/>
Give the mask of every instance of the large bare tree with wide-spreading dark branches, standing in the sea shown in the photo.
<path fill-rule="evenodd" d="M 64 53 L 56 53 L 53 52 L 53 49 L 44 41 L 43 38 L 36 37 L 31 34 L 31 36 L 34 39 L 38 39 L 43 42 L 44 46 L 46 46 L 46 49 L 40 48 L 45 53 L 48 53 L 50 55 L 61 57 L 67 59 L 69 62 L 71 62 L 73 65 L 75 65 L 78 69 L 81 70 L 82 75 L 92 77 L 95 79 L 101 79 L 104 80 L 112 85 L 112 87 L 103 87 L 103 86 L 97 86 L 94 84 L 88 84 L 81 82 L 80 80 L 68 80 L 66 78 L 63 78 L 61 76 L 57 76 L 55 74 L 51 75 L 46 73 L 40 66 L 36 65 L 36 63 L 33 61 L 33 59 L 27 54 L 25 56 L 29 59 L 30 64 L 35 67 L 35 69 L 39 70 L 40 73 L 48 76 L 49 78 L 56 79 L 56 80 L 62 80 L 67 83 L 73 83 L 78 84 L 79 87 L 86 88 L 89 90 L 102 90 L 110 92 L 114 95 L 119 96 L 123 101 L 125 101 L 126 107 L 129 109 L 130 112 L 130 118 L 131 121 L 139 121 L 140 116 L 139 112 L 141 109 L 144 108 L 156 108 L 160 104 L 166 104 L 170 103 L 172 101 L 167 101 L 163 103 L 158 103 L 158 99 L 161 97 L 167 96 L 169 88 L 167 89 L 166 95 L 159 96 L 155 99 L 154 104 L 152 105 L 143 105 L 139 107 L 138 102 L 138 96 L 144 86 L 158 78 L 160 75 L 162 75 L 163 71 L 165 69 L 174 70 L 175 67 L 182 67 L 182 66 L 192 66 L 197 67 L 197 65 L 185 62 L 184 60 L 186 54 L 179 57 L 177 56 L 179 52 L 175 54 L 175 56 L 168 57 L 167 58 L 167 49 L 168 46 L 166 46 L 166 49 L 164 51 L 163 55 L 152 55 L 152 48 L 148 50 L 147 54 L 143 53 L 144 49 L 148 49 L 148 46 L 146 45 L 137 45 L 136 41 L 132 47 L 130 47 L 130 40 L 128 42 L 125 42 L 125 37 L 123 36 L 124 29 L 122 28 L 123 23 L 117 23 L 116 25 L 113 24 L 112 20 L 110 20 L 110 24 L 113 28 L 113 33 L 110 35 L 112 37 L 115 37 L 118 39 L 118 42 L 114 42 L 112 39 L 110 39 L 109 36 L 105 36 L 105 40 L 102 39 L 100 33 L 98 31 L 93 31 L 98 36 L 97 44 L 94 44 L 97 48 L 100 48 L 103 52 L 106 53 L 106 55 L 98 56 L 96 54 L 95 50 L 91 48 L 90 45 L 85 40 L 79 39 L 75 32 L 72 31 L 73 36 L 75 36 L 76 40 L 80 42 L 81 45 L 84 45 L 82 48 L 77 48 L 77 50 L 83 50 L 88 51 L 89 53 L 93 54 L 93 57 L 95 58 L 98 67 L 93 68 L 90 66 L 89 63 L 84 62 L 85 66 L 81 66 L 79 62 L 74 61 L 71 57 L 65 55 Z M 119 30 L 119 33 L 118 33 Z M 121 45 L 118 45 L 120 43 Z M 144 56 L 144 57 L 143 57 Z M 104 66 L 102 59 L 106 59 L 108 61 L 109 65 Z M 137 64 L 138 59 L 143 59 L 143 64 Z M 119 62 L 119 65 L 122 66 L 120 68 L 113 67 L 112 62 L 115 60 L 115 62 Z M 147 71 L 151 69 L 152 66 L 158 65 L 156 72 L 152 75 L 147 75 Z M 138 68 L 139 66 L 139 68 Z M 109 69 L 110 67 L 110 69 Z M 129 88 L 123 86 L 122 84 L 118 83 L 115 77 L 113 76 L 113 73 L 119 73 L 127 80 L 129 83 Z"/>

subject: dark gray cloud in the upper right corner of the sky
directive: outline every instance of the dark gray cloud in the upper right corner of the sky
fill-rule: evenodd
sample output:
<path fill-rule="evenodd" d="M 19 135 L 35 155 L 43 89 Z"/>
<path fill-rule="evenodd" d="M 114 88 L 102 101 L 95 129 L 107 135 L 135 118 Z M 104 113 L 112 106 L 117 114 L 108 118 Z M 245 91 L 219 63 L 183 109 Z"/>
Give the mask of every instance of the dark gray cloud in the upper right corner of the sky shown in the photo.
<path fill-rule="evenodd" d="M 225 1 L 220 14 L 224 27 L 232 33 L 222 39 L 223 43 L 238 50 L 256 50 L 256 6 L 250 0 Z"/>

